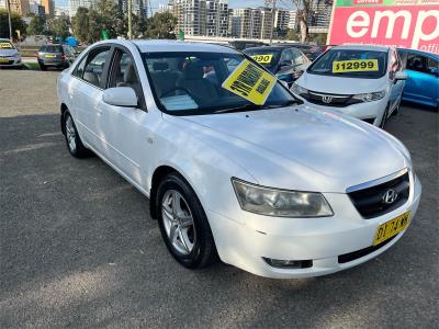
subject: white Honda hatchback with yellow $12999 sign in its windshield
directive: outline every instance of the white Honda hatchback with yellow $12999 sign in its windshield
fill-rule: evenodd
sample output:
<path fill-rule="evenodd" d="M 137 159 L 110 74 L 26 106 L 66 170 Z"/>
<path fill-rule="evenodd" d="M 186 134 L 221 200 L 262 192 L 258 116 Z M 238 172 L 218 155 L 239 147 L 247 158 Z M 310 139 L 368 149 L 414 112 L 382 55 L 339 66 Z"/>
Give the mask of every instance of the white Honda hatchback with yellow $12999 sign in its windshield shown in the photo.
<path fill-rule="evenodd" d="M 347 45 L 318 57 L 291 90 L 307 104 L 384 128 L 399 109 L 405 79 L 396 49 Z"/>

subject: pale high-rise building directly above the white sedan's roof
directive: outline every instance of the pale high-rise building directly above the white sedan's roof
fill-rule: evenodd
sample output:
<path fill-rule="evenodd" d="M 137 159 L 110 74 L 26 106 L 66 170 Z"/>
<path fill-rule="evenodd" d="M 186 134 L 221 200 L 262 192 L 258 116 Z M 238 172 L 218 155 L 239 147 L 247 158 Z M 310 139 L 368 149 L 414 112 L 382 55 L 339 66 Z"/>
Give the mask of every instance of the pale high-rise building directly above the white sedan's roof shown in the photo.
<path fill-rule="evenodd" d="M 171 12 L 187 35 L 227 36 L 227 0 L 170 0 L 159 11 Z"/>

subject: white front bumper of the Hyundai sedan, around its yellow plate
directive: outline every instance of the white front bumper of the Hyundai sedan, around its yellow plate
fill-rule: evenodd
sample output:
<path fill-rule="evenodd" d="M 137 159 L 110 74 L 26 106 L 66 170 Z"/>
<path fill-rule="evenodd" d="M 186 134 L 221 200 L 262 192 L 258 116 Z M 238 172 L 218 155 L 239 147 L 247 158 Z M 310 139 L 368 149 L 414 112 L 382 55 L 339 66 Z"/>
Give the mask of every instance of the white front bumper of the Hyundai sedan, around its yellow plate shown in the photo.
<path fill-rule="evenodd" d="M 410 173 L 412 175 L 412 173 Z M 347 194 L 324 193 L 335 215 L 322 218 L 267 217 L 243 212 L 245 222 L 207 211 L 219 258 L 257 275 L 294 279 L 325 275 L 363 263 L 391 248 L 404 235 L 372 252 L 341 262 L 339 257 L 372 246 L 378 227 L 396 216 L 417 211 L 421 194 L 418 179 L 410 177 L 410 195 L 399 208 L 383 216 L 363 219 Z M 312 260 L 306 269 L 280 269 L 263 258 L 275 260 Z"/>

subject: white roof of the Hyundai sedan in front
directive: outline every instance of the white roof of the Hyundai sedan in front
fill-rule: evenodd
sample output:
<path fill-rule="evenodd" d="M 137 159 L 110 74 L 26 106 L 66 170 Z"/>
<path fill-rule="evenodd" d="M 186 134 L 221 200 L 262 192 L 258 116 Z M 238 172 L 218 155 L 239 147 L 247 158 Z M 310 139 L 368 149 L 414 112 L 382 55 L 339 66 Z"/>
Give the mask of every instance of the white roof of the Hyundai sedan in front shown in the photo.
<path fill-rule="evenodd" d="M 207 52 L 207 53 L 229 53 L 239 54 L 226 45 L 214 45 L 207 43 L 191 43 L 180 41 L 161 39 L 135 39 L 135 41 L 108 41 L 120 44 L 134 43 L 142 53 L 164 53 L 164 52 Z"/>

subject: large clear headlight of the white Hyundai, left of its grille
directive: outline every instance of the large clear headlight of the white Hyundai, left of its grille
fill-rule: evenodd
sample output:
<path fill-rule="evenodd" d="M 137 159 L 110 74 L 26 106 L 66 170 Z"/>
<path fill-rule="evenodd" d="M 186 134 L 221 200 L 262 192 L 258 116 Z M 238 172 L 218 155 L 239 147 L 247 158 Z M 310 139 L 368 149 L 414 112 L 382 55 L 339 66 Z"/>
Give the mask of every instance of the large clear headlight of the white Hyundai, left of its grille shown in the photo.
<path fill-rule="evenodd" d="M 244 211 L 278 217 L 326 217 L 333 209 L 320 193 L 277 190 L 232 179 Z"/>

